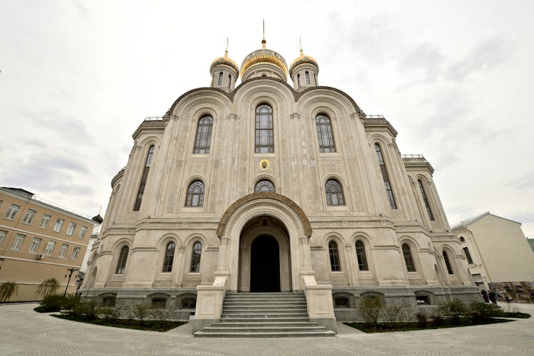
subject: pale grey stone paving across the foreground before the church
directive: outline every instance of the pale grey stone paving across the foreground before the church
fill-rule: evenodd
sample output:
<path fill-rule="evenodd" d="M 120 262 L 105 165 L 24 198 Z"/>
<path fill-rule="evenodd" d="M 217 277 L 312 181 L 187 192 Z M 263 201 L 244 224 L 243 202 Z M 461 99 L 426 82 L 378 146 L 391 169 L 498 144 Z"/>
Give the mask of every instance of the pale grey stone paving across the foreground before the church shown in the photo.
<path fill-rule="evenodd" d="M 514 304 L 534 315 L 534 305 Z M 0 305 L 0 355 L 534 355 L 534 317 L 465 328 L 335 337 L 204 339 L 191 324 L 167 333 L 108 328 Z"/>

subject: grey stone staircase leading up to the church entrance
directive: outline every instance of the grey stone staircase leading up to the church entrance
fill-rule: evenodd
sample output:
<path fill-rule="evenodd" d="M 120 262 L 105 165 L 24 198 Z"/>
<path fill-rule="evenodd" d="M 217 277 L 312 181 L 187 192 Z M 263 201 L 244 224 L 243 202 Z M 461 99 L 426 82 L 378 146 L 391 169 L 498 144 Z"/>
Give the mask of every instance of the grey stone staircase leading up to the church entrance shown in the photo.
<path fill-rule="evenodd" d="M 303 293 L 226 293 L 221 320 L 194 337 L 334 336 L 308 319 Z"/>

